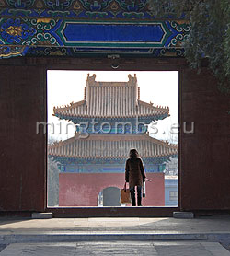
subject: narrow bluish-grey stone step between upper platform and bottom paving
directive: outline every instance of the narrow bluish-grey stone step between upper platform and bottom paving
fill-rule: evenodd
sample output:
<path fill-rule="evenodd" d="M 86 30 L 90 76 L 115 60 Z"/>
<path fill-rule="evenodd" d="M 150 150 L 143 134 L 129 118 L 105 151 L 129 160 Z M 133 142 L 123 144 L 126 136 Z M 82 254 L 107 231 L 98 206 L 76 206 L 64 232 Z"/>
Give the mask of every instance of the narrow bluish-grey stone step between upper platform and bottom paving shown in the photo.
<path fill-rule="evenodd" d="M 230 239 L 230 232 L 227 233 L 77 233 L 73 232 L 49 232 L 42 234 L 1 234 L 0 244 L 25 243 L 25 242 L 71 242 L 71 241 L 112 241 L 112 240 L 201 240 L 220 241 Z"/>

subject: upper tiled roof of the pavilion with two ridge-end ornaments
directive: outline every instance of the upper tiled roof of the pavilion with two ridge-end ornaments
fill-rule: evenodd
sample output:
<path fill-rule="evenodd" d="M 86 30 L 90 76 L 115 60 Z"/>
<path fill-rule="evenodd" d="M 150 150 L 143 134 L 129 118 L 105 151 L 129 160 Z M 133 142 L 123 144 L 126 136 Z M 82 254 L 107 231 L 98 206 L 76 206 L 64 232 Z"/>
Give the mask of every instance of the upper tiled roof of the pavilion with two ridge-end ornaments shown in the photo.
<path fill-rule="evenodd" d="M 88 76 L 85 99 L 67 106 L 54 107 L 53 115 L 61 118 L 129 118 L 169 116 L 169 108 L 155 106 L 140 100 L 140 88 L 136 76 L 128 76 L 128 82 L 98 82 L 96 76 Z"/>

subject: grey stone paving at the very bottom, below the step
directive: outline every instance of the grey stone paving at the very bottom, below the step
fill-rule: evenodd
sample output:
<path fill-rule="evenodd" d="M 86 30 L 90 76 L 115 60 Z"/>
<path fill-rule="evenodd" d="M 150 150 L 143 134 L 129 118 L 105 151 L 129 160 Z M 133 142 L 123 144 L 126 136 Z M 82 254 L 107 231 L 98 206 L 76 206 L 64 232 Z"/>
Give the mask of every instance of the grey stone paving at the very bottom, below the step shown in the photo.
<path fill-rule="evenodd" d="M 85 256 L 85 255 L 153 255 L 153 256 L 230 256 L 218 242 L 72 242 L 10 244 L 0 256 Z"/>

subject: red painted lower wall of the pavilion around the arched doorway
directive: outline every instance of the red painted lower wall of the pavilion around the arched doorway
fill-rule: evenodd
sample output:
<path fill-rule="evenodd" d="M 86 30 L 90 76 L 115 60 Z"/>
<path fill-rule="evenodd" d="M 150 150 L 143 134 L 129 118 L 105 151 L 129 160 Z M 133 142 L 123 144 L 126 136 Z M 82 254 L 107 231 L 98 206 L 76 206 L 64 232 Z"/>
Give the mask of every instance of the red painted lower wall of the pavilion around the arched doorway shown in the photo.
<path fill-rule="evenodd" d="M 144 206 L 165 205 L 164 173 L 147 173 Z M 97 206 L 98 193 L 108 187 L 122 188 L 123 173 L 60 173 L 60 206 Z"/>

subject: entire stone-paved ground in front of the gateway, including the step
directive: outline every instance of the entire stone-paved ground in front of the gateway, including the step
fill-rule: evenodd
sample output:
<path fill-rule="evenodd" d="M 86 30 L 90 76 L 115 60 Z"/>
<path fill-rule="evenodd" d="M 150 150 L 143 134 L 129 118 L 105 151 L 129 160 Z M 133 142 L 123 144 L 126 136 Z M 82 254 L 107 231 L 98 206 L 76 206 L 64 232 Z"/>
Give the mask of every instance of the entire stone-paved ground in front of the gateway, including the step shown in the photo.
<path fill-rule="evenodd" d="M 0 218 L 0 256 L 230 256 L 230 216 Z"/>

